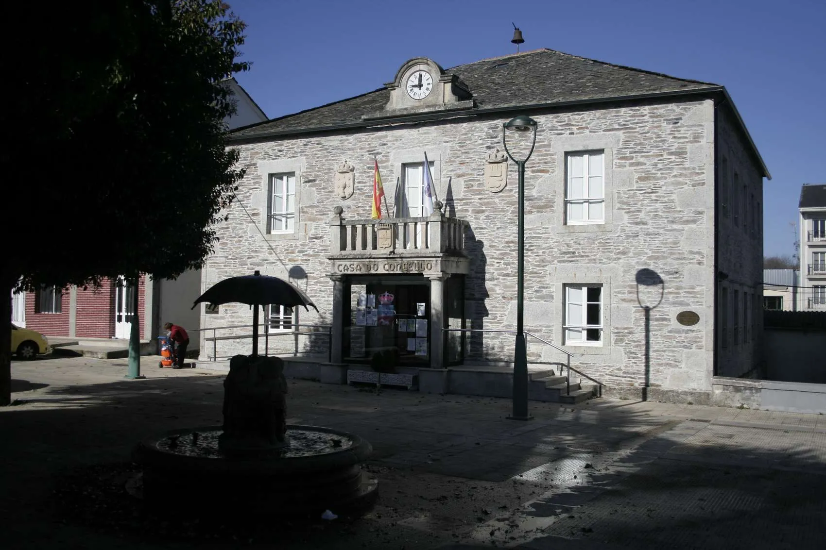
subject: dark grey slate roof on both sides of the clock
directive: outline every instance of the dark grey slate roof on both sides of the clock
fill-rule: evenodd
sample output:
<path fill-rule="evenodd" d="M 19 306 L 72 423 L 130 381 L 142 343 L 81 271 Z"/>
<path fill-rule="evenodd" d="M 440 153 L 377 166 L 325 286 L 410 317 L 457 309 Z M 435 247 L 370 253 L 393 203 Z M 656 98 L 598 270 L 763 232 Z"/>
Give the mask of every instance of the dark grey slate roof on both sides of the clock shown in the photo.
<path fill-rule="evenodd" d="M 720 89 L 713 83 L 675 78 L 621 65 L 586 59 L 556 50 L 532 50 L 457 65 L 455 74 L 473 94 L 472 111 L 537 104 L 566 103 L 653 93 Z M 339 102 L 282 116 L 237 129 L 230 140 L 254 139 L 274 134 L 298 134 L 336 126 L 372 126 L 362 115 L 382 111 L 390 90 L 380 88 Z M 456 116 L 456 112 L 444 116 Z"/>

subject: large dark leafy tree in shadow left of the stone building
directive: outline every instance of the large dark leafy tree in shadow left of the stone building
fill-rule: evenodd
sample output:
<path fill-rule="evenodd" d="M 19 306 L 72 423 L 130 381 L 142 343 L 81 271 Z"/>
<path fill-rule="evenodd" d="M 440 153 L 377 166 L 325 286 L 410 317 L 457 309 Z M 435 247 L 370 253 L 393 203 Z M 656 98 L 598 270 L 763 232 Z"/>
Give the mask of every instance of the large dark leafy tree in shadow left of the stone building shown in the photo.
<path fill-rule="evenodd" d="M 12 289 L 177 277 L 202 266 L 235 183 L 221 81 L 249 68 L 244 23 L 214 0 L 15 2 L 22 65 L 2 112 L 16 193 L 2 217 L 0 315 Z M 39 235 L 29 241 L 10 235 Z M 31 242 L 29 246 L 21 243 Z M 17 245 L 13 245 L 17 244 Z M 0 330 L 0 405 L 11 347 Z"/>

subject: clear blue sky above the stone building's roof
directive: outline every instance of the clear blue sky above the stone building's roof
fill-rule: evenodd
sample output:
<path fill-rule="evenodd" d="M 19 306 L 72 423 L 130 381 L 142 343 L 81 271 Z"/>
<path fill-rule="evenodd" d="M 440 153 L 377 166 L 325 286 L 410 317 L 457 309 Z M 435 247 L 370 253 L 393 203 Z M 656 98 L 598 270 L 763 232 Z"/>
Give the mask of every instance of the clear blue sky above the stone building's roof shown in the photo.
<path fill-rule="evenodd" d="M 551 48 L 724 85 L 766 162 L 765 254 L 794 252 L 803 183 L 826 183 L 824 0 L 229 0 L 252 62 L 236 76 L 276 117 L 369 92 L 413 57 L 445 69 Z"/>

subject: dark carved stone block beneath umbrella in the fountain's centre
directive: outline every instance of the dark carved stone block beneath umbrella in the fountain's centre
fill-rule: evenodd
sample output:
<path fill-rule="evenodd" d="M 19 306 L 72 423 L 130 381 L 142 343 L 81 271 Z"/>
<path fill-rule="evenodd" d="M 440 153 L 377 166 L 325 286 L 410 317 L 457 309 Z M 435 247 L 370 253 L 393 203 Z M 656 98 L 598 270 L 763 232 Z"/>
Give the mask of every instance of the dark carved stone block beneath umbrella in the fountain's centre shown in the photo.
<path fill-rule="evenodd" d="M 230 359 L 224 380 L 224 433 L 218 447 L 227 454 L 275 449 L 287 444 L 287 379 L 278 357 Z"/>

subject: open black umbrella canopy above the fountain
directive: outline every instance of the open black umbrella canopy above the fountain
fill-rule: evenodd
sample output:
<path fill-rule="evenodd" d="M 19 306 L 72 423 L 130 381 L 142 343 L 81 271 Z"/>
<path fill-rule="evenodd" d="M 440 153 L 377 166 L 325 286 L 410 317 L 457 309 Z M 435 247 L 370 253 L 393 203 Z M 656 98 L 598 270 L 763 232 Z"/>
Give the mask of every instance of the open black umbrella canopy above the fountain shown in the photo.
<path fill-rule="evenodd" d="M 278 277 L 261 275 L 258 271 L 254 275 L 230 277 L 216 282 L 207 292 L 198 296 L 192 304 L 192 309 L 195 309 L 195 306 L 201 302 L 216 306 L 230 302 L 240 302 L 250 306 L 268 304 L 287 307 L 304 306 L 307 311 L 310 310 L 307 306 L 312 306 L 318 311 L 316 304 L 312 303 L 298 287 Z"/>

